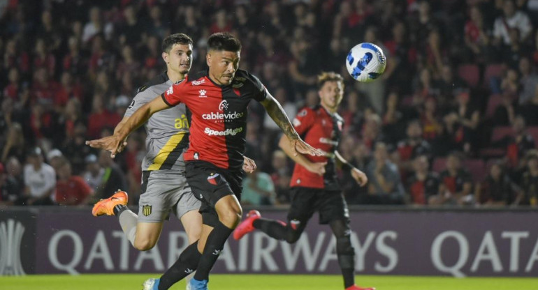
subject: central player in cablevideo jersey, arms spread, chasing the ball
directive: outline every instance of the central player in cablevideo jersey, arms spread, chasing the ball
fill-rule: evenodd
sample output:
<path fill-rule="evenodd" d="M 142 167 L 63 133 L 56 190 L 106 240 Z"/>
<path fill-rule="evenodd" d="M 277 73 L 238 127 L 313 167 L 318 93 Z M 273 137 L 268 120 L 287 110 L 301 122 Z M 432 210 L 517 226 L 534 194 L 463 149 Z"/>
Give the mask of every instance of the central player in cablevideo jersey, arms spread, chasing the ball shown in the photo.
<path fill-rule="evenodd" d="M 239 40 L 231 34 L 212 34 L 208 38 L 206 55 L 208 70 L 187 75 L 160 97 L 140 107 L 114 135 L 94 141 L 96 146 L 111 151 L 113 156 L 129 133 L 152 114 L 181 102 L 191 111 L 189 148 L 184 153 L 184 160 L 187 182 L 202 201 L 202 236 L 198 243 L 193 244 L 195 246 L 189 246 L 182 252 L 180 260 L 165 276 L 196 270 L 190 282 L 193 290 L 207 289 L 209 272 L 226 238 L 240 222 L 242 154 L 245 151 L 249 102 L 256 100 L 266 108 L 289 138 L 289 147 L 295 154 L 323 154 L 300 138 L 282 107 L 257 77 L 238 70 L 240 51 Z M 191 259 L 197 256 L 195 251 L 202 253 L 199 262 Z M 159 290 L 171 286 L 160 282 L 155 285 Z"/>

